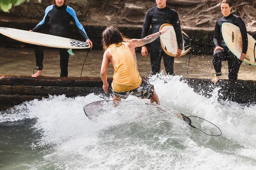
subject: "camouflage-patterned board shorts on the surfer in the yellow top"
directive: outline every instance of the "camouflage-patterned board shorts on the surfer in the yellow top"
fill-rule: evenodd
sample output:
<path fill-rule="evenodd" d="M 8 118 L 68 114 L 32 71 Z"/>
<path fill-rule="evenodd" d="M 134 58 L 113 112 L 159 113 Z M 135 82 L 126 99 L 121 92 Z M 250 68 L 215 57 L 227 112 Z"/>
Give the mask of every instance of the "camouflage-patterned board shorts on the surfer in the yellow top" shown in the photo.
<path fill-rule="evenodd" d="M 116 97 L 121 97 L 122 99 L 126 99 L 129 95 L 137 96 L 141 99 L 150 99 L 154 94 L 154 85 L 149 84 L 148 81 L 143 79 L 141 81 L 141 85 L 138 88 L 135 88 L 130 91 L 122 91 L 122 92 L 113 91 L 113 94 Z"/>

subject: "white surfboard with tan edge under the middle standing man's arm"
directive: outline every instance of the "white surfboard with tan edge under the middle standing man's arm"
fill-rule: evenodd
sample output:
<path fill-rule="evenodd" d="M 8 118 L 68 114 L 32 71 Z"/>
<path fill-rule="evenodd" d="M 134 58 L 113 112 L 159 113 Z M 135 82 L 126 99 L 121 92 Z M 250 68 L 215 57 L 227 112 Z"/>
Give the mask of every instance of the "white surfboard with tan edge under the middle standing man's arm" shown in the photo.
<path fill-rule="evenodd" d="M 176 33 L 171 24 L 163 24 L 160 27 L 161 31 L 163 28 L 169 27 L 169 30 L 166 31 L 163 35 L 160 35 L 160 41 L 161 45 L 163 48 L 163 51 L 168 54 L 169 56 L 176 57 L 177 50 L 178 50 L 178 44 L 177 44 L 177 38 L 176 38 Z M 183 37 L 183 47 L 184 49 L 181 51 L 180 56 L 183 56 L 187 54 L 191 48 L 189 36 L 183 31 L 182 32 L 182 37 Z"/>

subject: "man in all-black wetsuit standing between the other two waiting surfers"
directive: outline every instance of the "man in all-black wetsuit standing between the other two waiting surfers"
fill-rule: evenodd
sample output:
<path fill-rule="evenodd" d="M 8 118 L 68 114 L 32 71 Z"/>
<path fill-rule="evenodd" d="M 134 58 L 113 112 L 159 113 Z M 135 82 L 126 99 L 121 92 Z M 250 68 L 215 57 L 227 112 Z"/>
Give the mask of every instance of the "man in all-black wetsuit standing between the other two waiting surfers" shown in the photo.
<path fill-rule="evenodd" d="M 177 37 L 177 57 L 180 57 L 181 51 L 183 49 L 183 38 L 178 14 L 174 9 L 166 6 L 166 0 L 156 0 L 156 3 L 157 6 L 150 8 L 146 13 L 141 38 L 145 38 L 148 35 L 150 25 L 152 26 L 152 34 L 154 34 L 159 31 L 160 26 L 162 26 L 164 23 L 172 24 Z M 145 46 L 142 47 L 141 54 L 144 57 L 147 57 L 148 50 Z M 174 75 L 174 57 L 167 55 L 163 51 L 160 43 L 160 38 L 157 38 L 157 40 L 151 42 L 150 46 L 150 62 L 152 68 L 152 75 L 159 73 L 162 57 L 166 69 L 166 74 Z"/>

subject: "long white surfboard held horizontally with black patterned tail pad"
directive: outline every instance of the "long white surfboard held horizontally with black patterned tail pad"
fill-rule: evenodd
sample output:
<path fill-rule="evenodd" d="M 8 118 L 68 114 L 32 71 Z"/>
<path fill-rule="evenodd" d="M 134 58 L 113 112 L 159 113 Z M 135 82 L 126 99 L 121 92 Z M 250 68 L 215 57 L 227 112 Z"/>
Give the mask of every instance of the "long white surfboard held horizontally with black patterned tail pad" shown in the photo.
<path fill-rule="evenodd" d="M 90 48 L 87 42 L 73 40 L 70 38 L 58 37 L 38 32 L 29 32 L 15 28 L 0 27 L 0 33 L 14 40 L 29 44 L 42 45 L 46 47 L 81 49 Z"/>

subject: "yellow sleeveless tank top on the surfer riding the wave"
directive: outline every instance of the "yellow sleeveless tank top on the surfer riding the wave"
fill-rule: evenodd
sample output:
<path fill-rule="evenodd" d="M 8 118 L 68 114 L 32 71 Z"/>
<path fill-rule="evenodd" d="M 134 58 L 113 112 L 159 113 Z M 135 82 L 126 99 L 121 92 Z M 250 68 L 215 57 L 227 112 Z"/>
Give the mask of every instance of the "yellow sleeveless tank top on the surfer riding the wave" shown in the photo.
<path fill-rule="evenodd" d="M 122 42 L 120 47 L 116 47 L 116 44 L 111 44 L 107 50 L 115 62 L 112 82 L 113 90 L 122 92 L 138 88 L 141 84 L 141 77 L 127 43 Z"/>

